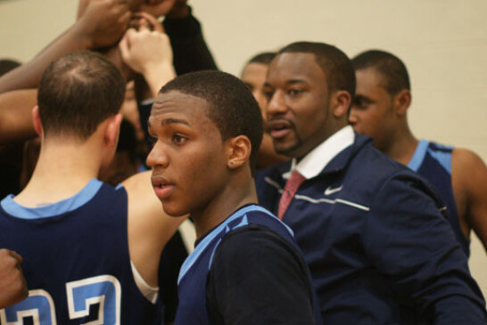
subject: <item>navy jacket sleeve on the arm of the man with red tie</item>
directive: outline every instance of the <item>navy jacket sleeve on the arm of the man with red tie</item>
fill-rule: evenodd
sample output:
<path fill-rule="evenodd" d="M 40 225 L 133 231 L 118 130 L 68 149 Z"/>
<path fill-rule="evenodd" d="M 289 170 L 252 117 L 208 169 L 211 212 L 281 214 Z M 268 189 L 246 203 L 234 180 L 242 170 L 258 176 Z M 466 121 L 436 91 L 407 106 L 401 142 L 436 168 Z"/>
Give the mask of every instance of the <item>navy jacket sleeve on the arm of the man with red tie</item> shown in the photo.
<path fill-rule="evenodd" d="M 374 213 L 367 217 L 367 256 L 426 318 L 450 321 L 471 314 L 478 319 L 485 313 L 482 294 L 450 223 L 439 211 L 441 199 L 428 189 L 404 175 L 385 182 L 370 207 Z"/>

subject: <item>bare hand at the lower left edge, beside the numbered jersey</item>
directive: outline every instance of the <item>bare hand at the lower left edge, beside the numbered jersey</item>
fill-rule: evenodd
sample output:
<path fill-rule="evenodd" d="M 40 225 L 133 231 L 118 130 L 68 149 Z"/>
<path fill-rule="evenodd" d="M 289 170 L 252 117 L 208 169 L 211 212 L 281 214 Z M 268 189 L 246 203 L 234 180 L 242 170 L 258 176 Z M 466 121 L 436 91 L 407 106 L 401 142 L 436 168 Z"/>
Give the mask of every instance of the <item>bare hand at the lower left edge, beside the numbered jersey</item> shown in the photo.
<path fill-rule="evenodd" d="M 0 249 L 0 309 L 16 304 L 29 295 L 21 263 L 19 254 Z"/>

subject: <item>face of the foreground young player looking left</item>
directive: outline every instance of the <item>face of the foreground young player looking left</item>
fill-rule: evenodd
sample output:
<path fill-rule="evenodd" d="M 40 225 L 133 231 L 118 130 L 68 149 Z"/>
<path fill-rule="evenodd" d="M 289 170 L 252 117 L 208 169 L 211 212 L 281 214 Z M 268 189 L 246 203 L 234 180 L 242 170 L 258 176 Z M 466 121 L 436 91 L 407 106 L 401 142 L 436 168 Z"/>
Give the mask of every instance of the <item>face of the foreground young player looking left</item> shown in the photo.
<path fill-rule="evenodd" d="M 153 104 L 149 133 L 155 143 L 147 165 L 168 215 L 201 212 L 226 183 L 223 142 L 207 110 L 206 101 L 177 91 L 160 94 Z"/>

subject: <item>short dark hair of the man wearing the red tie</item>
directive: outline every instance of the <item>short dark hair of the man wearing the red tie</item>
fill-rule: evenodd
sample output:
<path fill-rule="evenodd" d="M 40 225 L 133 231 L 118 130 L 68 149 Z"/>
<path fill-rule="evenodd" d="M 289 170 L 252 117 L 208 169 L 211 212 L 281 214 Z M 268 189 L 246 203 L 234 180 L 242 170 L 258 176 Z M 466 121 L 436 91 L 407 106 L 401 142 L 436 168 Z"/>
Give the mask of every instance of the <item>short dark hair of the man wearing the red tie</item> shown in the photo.
<path fill-rule="evenodd" d="M 345 53 L 333 45 L 313 42 L 296 42 L 283 47 L 281 53 L 311 53 L 315 55 L 318 66 L 323 70 L 328 91 L 345 90 L 355 95 L 355 71 Z"/>

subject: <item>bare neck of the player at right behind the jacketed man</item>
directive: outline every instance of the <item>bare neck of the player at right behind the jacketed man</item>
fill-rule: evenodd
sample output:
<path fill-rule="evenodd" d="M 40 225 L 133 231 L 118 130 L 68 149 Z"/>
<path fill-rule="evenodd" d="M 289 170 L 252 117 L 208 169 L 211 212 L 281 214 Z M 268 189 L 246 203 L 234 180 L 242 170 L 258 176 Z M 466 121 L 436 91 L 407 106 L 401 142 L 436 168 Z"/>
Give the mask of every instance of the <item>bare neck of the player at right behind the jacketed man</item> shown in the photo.
<path fill-rule="evenodd" d="M 400 128 L 393 136 L 391 144 L 384 153 L 392 159 L 400 162 L 402 165 L 408 165 L 409 160 L 414 155 L 417 147 L 417 138 L 409 130 L 406 124 Z"/>

